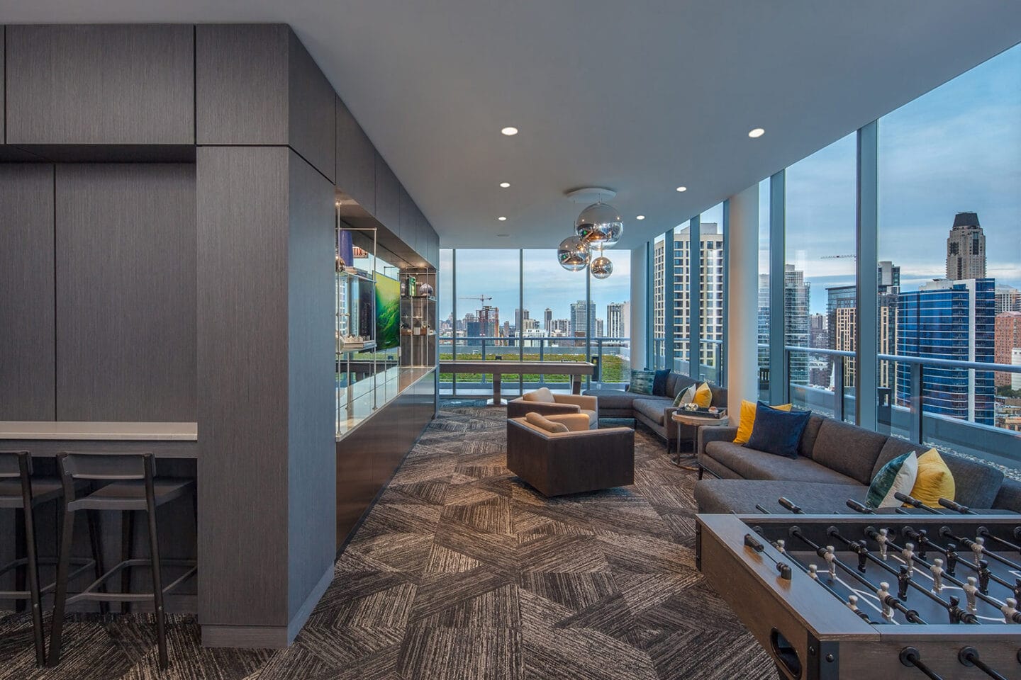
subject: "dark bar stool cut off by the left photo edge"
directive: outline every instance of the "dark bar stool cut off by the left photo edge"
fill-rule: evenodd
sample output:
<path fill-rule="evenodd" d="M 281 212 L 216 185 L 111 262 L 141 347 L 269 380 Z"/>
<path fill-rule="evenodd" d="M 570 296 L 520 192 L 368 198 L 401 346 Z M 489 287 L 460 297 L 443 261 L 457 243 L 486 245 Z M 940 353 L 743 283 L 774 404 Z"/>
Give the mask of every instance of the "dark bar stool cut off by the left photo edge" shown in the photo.
<path fill-rule="evenodd" d="M 14 510 L 17 513 L 15 526 L 17 529 L 17 557 L 0 567 L 0 576 L 16 569 L 14 590 L 0 590 L 0 599 L 28 600 L 32 604 L 32 628 L 36 642 L 36 664 L 46 663 L 46 642 L 43 633 L 42 597 L 53 590 L 56 583 L 41 585 L 39 580 L 40 565 L 53 565 L 56 560 L 39 558 L 36 539 L 35 509 L 63 495 L 63 484 L 56 477 L 33 477 L 32 456 L 27 451 L 0 452 L 0 509 Z M 101 573 L 96 536 L 96 527 L 90 522 L 89 533 L 93 540 L 92 560 L 72 560 L 71 565 L 79 567 L 69 578 L 74 579 L 87 569 L 94 568 L 96 575 Z M 26 581 L 28 590 L 26 590 Z"/>

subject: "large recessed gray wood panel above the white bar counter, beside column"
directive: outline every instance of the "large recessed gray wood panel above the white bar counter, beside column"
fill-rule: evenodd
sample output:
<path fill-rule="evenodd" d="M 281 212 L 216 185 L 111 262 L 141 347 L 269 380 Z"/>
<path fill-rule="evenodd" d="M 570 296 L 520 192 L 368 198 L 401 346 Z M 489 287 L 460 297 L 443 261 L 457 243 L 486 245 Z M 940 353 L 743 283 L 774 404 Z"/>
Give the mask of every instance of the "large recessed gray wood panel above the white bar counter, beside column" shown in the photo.
<path fill-rule="evenodd" d="M 56 420 L 195 420 L 195 166 L 56 166 Z"/>

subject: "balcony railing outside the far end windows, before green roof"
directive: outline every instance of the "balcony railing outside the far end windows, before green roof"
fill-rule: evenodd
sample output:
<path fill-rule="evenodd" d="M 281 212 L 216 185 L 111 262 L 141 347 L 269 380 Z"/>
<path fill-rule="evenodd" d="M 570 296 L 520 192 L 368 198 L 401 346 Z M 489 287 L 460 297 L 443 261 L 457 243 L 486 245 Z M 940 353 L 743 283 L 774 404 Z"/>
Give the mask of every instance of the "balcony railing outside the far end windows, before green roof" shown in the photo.
<path fill-rule="evenodd" d="M 543 335 L 540 337 L 439 337 L 440 359 L 505 359 L 538 361 L 591 361 L 595 373 L 585 379 L 586 388 L 623 388 L 631 381 L 630 337 L 566 337 Z M 440 395 L 484 395 L 492 391 L 492 383 L 485 374 L 440 373 Z M 571 376 L 503 374 L 501 390 L 514 394 L 517 382 L 522 393 L 539 387 L 569 390 Z"/>

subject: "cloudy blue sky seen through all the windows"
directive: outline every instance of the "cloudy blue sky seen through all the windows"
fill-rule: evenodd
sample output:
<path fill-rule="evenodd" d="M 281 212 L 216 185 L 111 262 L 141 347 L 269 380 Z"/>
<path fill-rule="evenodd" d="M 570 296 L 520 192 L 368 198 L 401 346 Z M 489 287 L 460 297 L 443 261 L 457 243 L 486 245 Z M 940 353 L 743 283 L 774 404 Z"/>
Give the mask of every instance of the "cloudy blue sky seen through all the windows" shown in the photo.
<path fill-rule="evenodd" d="M 854 258 L 823 258 L 856 250 L 856 144 L 853 133 L 787 168 L 787 261 L 811 281 L 813 312 L 825 311 L 826 286 L 855 280 Z M 943 275 L 945 239 L 959 211 L 978 213 L 989 276 L 1021 287 L 1021 45 L 879 120 L 879 259 L 901 265 L 904 290 Z M 721 221 L 722 212 L 716 206 L 701 219 Z M 592 284 L 599 318 L 607 303 L 630 298 L 630 253 L 607 256 L 614 274 Z M 764 254 L 761 269 L 765 261 Z M 449 264 L 446 251 L 441 270 L 449 272 Z M 525 251 L 524 271 L 533 316 L 549 307 L 555 318 L 567 317 L 570 304 L 585 297 L 584 272 L 564 271 L 552 249 Z M 449 280 L 441 285 L 445 318 Z M 488 303 L 500 308 L 501 320 L 514 321 L 518 251 L 457 252 L 457 296 L 480 295 L 493 298 Z M 478 301 L 458 300 L 457 316 L 477 308 Z"/>

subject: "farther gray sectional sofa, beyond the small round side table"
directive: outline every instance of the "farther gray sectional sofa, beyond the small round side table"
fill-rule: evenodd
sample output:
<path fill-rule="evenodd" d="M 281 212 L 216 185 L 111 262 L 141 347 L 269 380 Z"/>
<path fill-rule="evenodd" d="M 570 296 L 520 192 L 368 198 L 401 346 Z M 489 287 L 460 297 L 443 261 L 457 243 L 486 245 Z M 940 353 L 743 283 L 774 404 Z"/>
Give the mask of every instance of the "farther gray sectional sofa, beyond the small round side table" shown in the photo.
<path fill-rule="evenodd" d="M 599 400 L 600 418 L 634 418 L 659 434 L 667 442 L 667 451 L 672 451 L 677 442 L 677 423 L 670 418 L 677 409 L 674 400 L 677 395 L 694 384 L 696 380 L 687 375 L 671 372 L 667 376 L 667 395 L 655 397 L 639 395 L 624 389 L 586 389 L 585 395 Z M 713 390 L 713 403 L 718 409 L 727 408 L 727 389 L 709 383 Z M 681 425 L 681 440 L 691 441 L 694 432 L 689 425 Z M 733 436 L 731 436 L 733 438 Z"/>

